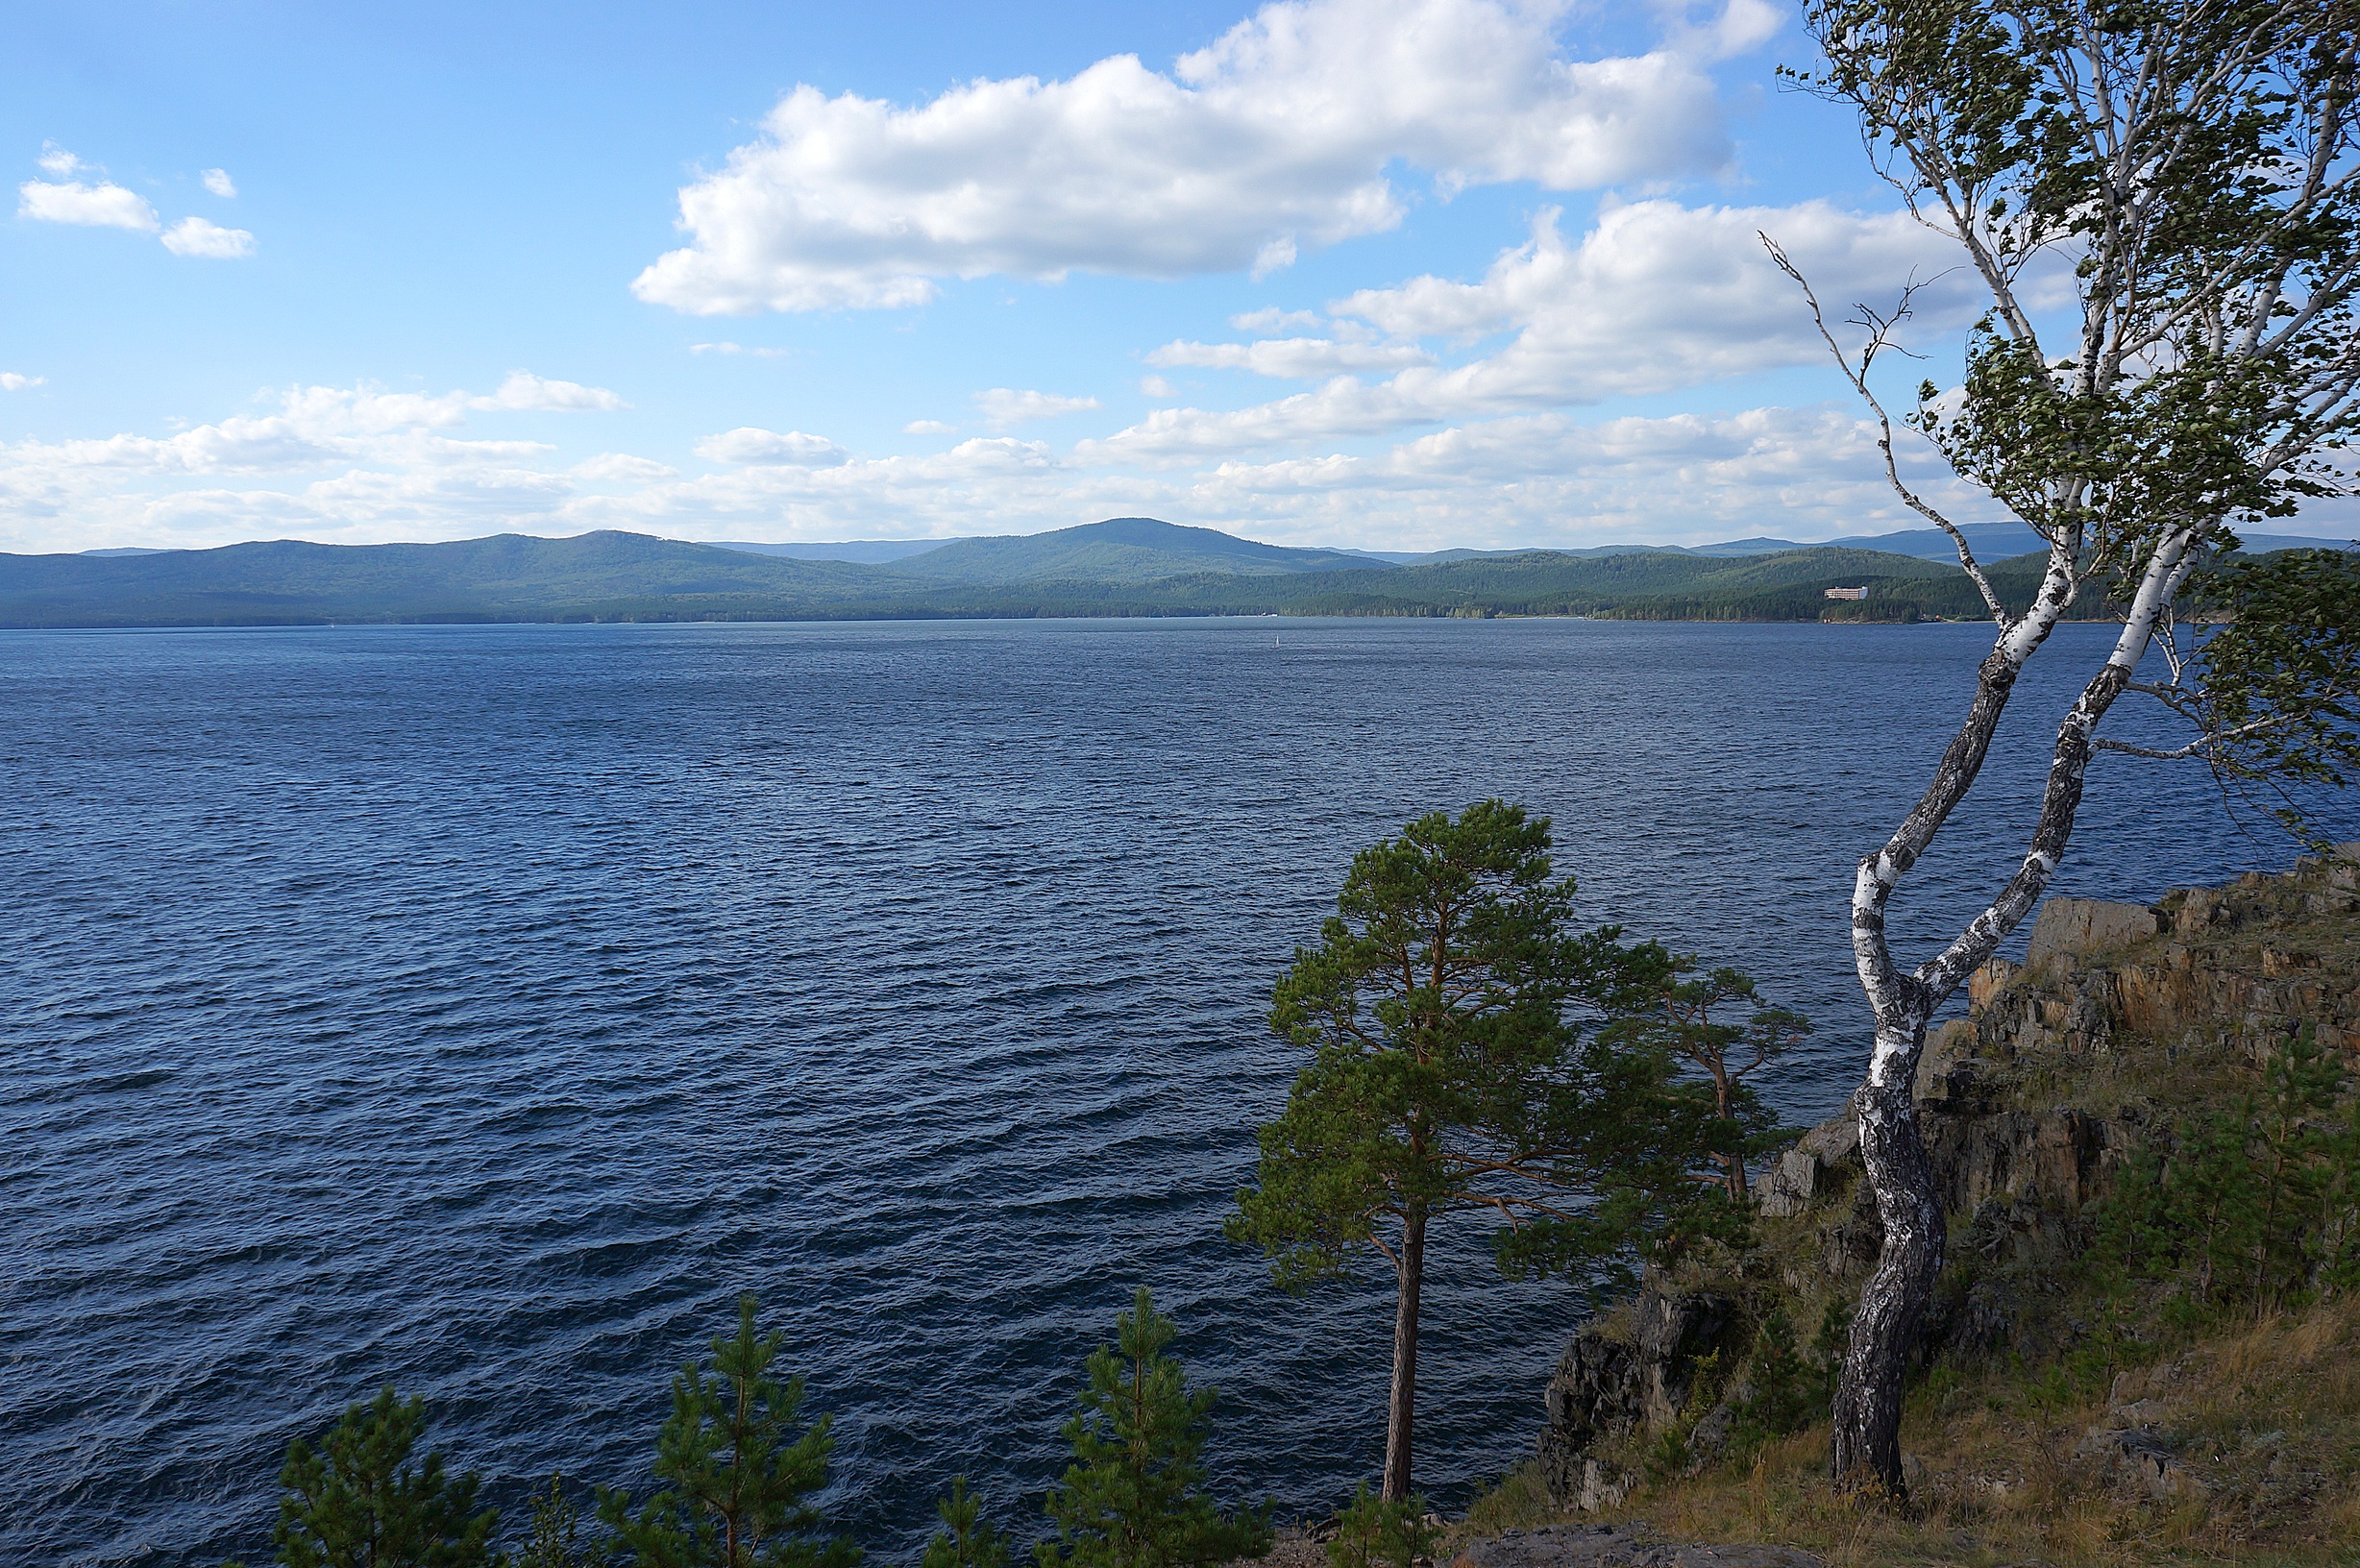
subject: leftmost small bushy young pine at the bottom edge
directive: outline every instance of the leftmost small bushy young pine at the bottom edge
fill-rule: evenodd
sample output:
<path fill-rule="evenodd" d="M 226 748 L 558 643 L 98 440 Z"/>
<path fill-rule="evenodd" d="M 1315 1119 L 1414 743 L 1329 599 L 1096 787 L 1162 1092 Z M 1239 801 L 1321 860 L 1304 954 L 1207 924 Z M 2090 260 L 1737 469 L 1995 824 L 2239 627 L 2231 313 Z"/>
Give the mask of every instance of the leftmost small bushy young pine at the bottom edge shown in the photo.
<path fill-rule="evenodd" d="M 271 1542 L 286 1568 L 491 1568 L 493 1509 L 477 1511 L 477 1478 L 446 1478 L 441 1455 L 411 1464 L 425 1400 L 382 1389 L 352 1405 L 319 1448 L 288 1445 Z"/>

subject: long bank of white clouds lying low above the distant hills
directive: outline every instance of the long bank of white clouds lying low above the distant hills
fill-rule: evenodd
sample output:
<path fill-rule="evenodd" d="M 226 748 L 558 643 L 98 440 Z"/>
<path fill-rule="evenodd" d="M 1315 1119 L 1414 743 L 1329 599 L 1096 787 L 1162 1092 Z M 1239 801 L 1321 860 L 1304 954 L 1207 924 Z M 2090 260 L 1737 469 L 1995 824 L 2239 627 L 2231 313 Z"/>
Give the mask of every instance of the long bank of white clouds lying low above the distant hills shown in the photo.
<path fill-rule="evenodd" d="M 986 435 L 944 451 L 861 453 L 831 432 L 741 425 L 687 453 L 569 460 L 545 442 L 451 432 L 479 416 L 621 411 L 616 392 L 522 371 L 491 394 L 297 387 L 267 413 L 177 435 L 0 449 L 0 538 L 38 548 L 66 512 L 104 531 L 94 543 L 590 527 L 857 538 L 1147 512 L 1274 541 L 1409 548 L 1699 541 L 1761 531 L 1765 515 L 1779 517 L 1777 531 L 1817 536 L 1912 522 L 1876 482 L 1874 446 L 1850 411 L 1739 404 L 1581 423 L 1567 409 L 1817 361 L 1824 347 L 1758 231 L 1831 295 L 1855 298 L 1947 262 L 1921 227 L 1817 201 L 1610 203 L 1581 236 L 1560 222 L 1541 213 L 1475 279 L 1416 276 L 1324 312 L 1244 312 L 1241 331 L 1289 335 L 1145 354 L 1244 390 L 1270 378 L 1310 390 L 1156 409 L 1064 444 Z M 1935 288 L 1921 305 L 1940 333 L 1971 300 Z M 972 404 L 994 432 L 1029 420 L 1071 430 L 1100 409 L 1095 397 L 1017 387 L 979 390 Z M 935 420 L 911 432 L 956 435 Z M 682 472 L 691 456 L 708 472 Z"/>

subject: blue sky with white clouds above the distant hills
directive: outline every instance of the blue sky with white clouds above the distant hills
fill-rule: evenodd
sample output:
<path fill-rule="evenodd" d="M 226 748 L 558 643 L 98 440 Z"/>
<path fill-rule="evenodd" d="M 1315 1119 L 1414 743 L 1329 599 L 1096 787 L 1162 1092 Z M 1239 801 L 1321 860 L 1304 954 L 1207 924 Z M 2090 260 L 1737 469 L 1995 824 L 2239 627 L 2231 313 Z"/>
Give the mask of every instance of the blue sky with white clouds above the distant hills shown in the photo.
<path fill-rule="evenodd" d="M 1912 378 L 1975 295 L 1782 64 L 1772 0 L 26 7 L 0 550 L 1919 527 L 1761 234 L 1933 279 Z"/>

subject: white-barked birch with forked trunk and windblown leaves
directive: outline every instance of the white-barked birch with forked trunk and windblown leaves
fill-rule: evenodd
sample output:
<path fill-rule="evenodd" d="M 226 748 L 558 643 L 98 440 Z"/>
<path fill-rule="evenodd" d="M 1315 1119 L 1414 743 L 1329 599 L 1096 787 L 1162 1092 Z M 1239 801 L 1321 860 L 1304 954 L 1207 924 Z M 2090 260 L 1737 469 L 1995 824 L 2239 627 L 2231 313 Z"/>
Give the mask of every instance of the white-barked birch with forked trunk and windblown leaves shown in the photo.
<path fill-rule="evenodd" d="M 1902 1374 L 1942 1268 L 1914 1115 L 1926 1025 L 2039 902 L 2093 753 L 2263 784 L 2341 782 L 2360 763 L 2351 560 L 2209 571 L 2237 524 L 2348 489 L 2334 458 L 2360 383 L 2360 0 L 1805 0 L 1803 14 L 1822 64 L 1801 85 L 1857 109 L 1879 172 L 1987 293 L 1961 383 L 1926 383 L 1905 423 L 2046 545 L 2032 602 L 2008 605 L 1902 477 L 1879 361 L 1914 290 L 1860 307 L 1853 335 L 1765 236 L 1883 432 L 1886 479 L 1952 536 L 1994 628 L 1933 777 L 1853 883 L 1876 1020 L 1853 1103 L 1886 1240 L 1853 1318 L 1831 1459 L 1838 1485 L 1900 1490 Z M 2192 595 L 2233 628 L 2190 638 Z M 1975 784 L 2027 664 L 2100 597 L 2119 626 L 2056 713 L 2030 841 L 1964 930 L 1905 963 L 1895 893 Z M 2100 734 L 2126 697 L 2164 704 L 2185 741 Z"/>

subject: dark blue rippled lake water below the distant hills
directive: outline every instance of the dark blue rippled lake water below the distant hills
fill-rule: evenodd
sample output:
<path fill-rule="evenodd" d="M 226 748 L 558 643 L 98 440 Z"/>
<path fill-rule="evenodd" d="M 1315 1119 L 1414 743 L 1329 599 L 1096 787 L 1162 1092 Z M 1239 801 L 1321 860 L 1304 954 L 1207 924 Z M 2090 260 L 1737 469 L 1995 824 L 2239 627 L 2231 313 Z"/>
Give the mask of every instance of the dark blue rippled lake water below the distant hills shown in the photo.
<path fill-rule="evenodd" d="M 264 1556 L 288 1438 L 387 1381 L 512 1518 L 552 1469 L 644 1488 L 668 1374 L 741 1289 L 835 1412 L 831 1509 L 883 1561 L 951 1471 L 1036 1530 L 1135 1282 L 1222 1389 L 1222 1488 L 1331 1507 L 1378 1469 L 1383 1280 L 1279 1296 L 1220 1219 L 1296 1070 L 1270 985 L 1352 850 L 1492 793 L 1553 815 L 1593 919 L 1820 1020 L 1770 1084 L 1812 1119 L 1864 1041 L 1850 862 L 1985 642 L 0 633 L 0 1561 Z M 2018 739 L 2060 690 L 2027 680 Z M 1994 763 L 1905 947 L 1997 886 L 2044 763 Z M 2202 772 L 2100 758 L 2060 886 L 2287 857 Z M 1529 1452 L 1576 1318 L 1449 1249 L 1428 1490 Z"/>

